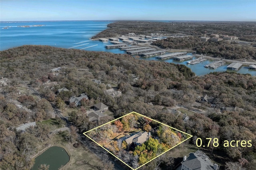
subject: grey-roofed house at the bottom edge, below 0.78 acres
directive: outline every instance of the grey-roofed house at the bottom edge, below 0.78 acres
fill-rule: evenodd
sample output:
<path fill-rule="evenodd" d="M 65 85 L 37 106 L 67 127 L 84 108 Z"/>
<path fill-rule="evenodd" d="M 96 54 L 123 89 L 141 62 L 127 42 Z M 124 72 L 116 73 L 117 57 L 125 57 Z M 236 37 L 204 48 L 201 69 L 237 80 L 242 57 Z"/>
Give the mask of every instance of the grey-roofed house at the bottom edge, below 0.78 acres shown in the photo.
<path fill-rule="evenodd" d="M 202 151 L 197 150 L 184 156 L 183 161 L 176 170 L 218 170 L 218 164 L 214 164 L 210 158 Z"/>

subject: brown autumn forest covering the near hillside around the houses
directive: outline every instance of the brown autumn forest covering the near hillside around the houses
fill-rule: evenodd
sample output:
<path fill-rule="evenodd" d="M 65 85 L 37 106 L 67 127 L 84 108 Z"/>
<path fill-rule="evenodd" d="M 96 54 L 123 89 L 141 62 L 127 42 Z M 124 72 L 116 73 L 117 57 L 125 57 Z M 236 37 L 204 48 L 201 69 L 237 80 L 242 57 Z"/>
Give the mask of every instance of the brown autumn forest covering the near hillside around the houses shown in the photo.
<path fill-rule="evenodd" d="M 88 95 L 88 103 L 85 102 L 85 106 L 78 107 L 78 111 L 70 113 L 70 121 L 80 132 L 113 120 L 113 117 L 108 117 L 98 122 L 88 121 L 86 108 L 102 102 L 109 106 L 114 118 L 136 111 L 192 134 L 195 137 L 190 144 L 194 144 L 197 137 L 202 138 L 203 142 L 207 142 L 206 138 L 219 138 L 220 143 L 224 140 L 252 140 L 251 147 L 220 146 L 214 148 L 213 152 L 217 150 L 226 152 L 228 164 L 238 164 L 248 170 L 256 166 L 256 77 L 233 72 L 214 72 L 196 77 L 184 65 L 144 61 L 130 55 L 40 45 L 24 45 L 1 51 L 0 62 L 0 75 L 10 79 L 10 85 L 2 87 L 0 102 L 0 167 L 2 169 L 30 167 L 31 155 L 36 152 L 34 149 L 30 150 L 35 146 L 34 141 L 50 140 L 50 130 L 44 125 L 38 124 L 38 127 L 21 134 L 7 128 L 28 121 L 47 119 L 52 109 L 50 102 L 61 107 L 62 102 L 71 95 L 78 96 L 81 93 Z M 116 67 L 110 65 L 120 66 L 125 70 L 118 72 Z M 54 67 L 62 67 L 56 76 L 50 74 L 50 69 Z M 135 81 L 133 75 L 139 79 Z M 57 83 L 46 86 L 45 79 Z M 99 79 L 105 85 L 97 85 L 92 79 Z M 18 95 L 16 85 L 22 83 L 38 88 L 43 99 L 34 101 L 30 94 Z M 117 84 L 122 96 L 113 98 L 105 95 L 104 90 L 108 83 Z M 72 89 L 72 93 L 54 95 L 57 89 L 62 87 Z M 166 109 L 177 104 L 194 106 L 198 96 L 205 94 L 214 97 L 213 107 L 216 109 L 222 107 L 241 109 L 221 113 L 198 113 L 186 122 L 183 121 L 182 115 L 175 116 Z M 20 111 L 8 103 L 11 99 L 17 99 L 34 114 Z M 154 105 L 148 105 L 149 102 Z M 206 107 L 211 107 L 211 104 L 204 103 L 199 109 Z M 28 139 L 34 140 L 26 142 Z M 70 137 L 66 139 L 71 140 Z M 24 142 L 16 142 L 17 140 Z M 25 146 L 26 143 L 29 145 Z M 171 158 L 171 154 L 168 156 Z M 246 161 L 241 164 L 241 160 Z M 167 158 L 164 158 L 164 161 L 172 162 Z M 145 168 L 152 169 L 153 163 L 147 164 Z"/>

